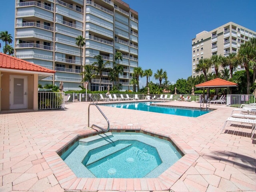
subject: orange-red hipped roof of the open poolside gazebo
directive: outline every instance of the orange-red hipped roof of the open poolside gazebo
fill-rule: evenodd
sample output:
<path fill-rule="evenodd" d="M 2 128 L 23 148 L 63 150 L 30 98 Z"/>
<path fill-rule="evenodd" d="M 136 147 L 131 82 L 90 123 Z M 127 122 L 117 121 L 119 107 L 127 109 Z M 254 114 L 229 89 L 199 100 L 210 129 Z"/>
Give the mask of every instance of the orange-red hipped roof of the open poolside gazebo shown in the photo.
<path fill-rule="evenodd" d="M 210 88 L 217 88 L 217 87 L 236 87 L 237 84 L 226 81 L 224 79 L 216 78 L 210 81 L 206 81 L 204 83 L 200 83 L 196 85 L 197 88 L 203 88 L 203 87 L 210 87 Z"/>

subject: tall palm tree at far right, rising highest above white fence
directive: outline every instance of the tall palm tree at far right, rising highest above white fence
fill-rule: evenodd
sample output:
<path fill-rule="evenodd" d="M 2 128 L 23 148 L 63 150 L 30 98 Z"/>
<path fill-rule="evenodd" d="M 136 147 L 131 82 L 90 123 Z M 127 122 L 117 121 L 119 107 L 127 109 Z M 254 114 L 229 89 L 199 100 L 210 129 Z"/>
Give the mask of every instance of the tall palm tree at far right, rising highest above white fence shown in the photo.
<path fill-rule="evenodd" d="M 246 70 L 247 88 L 246 94 L 250 94 L 250 68 L 256 65 L 256 49 L 251 46 L 250 43 L 246 42 L 241 44 L 240 50 L 238 51 L 237 61 L 239 64 L 244 65 Z"/>

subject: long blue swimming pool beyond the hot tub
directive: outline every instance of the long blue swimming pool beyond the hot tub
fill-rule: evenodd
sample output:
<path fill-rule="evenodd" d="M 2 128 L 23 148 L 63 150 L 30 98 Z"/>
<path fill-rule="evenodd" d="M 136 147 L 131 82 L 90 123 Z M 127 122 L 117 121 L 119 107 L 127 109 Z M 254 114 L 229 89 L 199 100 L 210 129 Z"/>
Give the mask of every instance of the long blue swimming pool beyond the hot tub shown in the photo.
<path fill-rule="evenodd" d="M 110 107 L 126 108 L 133 110 L 141 110 L 148 112 L 164 113 L 171 115 L 180 115 L 187 117 L 198 117 L 204 115 L 211 110 L 200 110 L 196 108 L 181 108 L 181 107 L 169 107 L 169 106 L 156 106 L 157 102 L 133 102 L 133 103 L 118 103 L 118 104 L 99 104 Z"/>

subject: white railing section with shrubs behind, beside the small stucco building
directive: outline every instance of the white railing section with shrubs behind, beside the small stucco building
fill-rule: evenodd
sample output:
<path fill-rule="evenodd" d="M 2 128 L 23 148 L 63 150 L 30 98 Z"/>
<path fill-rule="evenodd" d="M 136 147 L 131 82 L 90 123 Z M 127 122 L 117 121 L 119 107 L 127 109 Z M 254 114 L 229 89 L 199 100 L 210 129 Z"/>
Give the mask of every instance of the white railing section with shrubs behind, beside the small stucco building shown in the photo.
<path fill-rule="evenodd" d="M 38 110 L 63 108 L 64 93 L 38 92 Z"/>

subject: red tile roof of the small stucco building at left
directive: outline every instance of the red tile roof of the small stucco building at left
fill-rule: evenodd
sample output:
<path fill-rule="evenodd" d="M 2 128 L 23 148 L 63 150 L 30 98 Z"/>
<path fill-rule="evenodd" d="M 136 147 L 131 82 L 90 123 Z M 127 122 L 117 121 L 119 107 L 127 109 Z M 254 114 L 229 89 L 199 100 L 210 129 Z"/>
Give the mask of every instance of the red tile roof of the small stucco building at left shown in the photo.
<path fill-rule="evenodd" d="M 0 68 L 24 70 L 33 72 L 55 73 L 54 70 L 0 53 Z"/>

